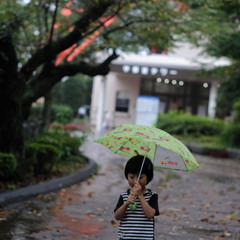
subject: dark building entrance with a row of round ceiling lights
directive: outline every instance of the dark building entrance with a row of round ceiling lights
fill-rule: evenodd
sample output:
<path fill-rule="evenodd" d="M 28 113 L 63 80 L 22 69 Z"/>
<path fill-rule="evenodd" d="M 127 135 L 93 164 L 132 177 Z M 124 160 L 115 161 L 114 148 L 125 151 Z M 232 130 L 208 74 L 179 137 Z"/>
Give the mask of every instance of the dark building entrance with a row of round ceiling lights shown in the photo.
<path fill-rule="evenodd" d="M 141 95 L 160 98 L 159 112 L 183 110 L 207 115 L 209 84 L 175 79 L 142 78 Z"/>

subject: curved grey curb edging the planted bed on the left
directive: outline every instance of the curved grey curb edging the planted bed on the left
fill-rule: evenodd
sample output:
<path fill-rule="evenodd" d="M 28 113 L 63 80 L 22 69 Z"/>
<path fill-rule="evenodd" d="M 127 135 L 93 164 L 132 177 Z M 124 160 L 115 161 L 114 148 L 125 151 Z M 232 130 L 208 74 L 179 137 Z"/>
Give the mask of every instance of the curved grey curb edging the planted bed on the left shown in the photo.
<path fill-rule="evenodd" d="M 88 160 L 89 164 L 76 173 L 0 194 L 0 208 L 11 203 L 27 200 L 39 194 L 56 192 L 64 187 L 84 181 L 97 169 L 97 164 L 92 159 L 88 158 Z"/>

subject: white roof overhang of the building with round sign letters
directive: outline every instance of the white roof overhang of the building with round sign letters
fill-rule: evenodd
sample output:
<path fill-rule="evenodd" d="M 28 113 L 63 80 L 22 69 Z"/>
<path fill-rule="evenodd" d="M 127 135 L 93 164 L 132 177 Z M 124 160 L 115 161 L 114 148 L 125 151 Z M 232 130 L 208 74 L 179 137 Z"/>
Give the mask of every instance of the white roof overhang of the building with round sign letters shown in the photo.
<path fill-rule="evenodd" d="M 177 78 L 184 81 L 211 81 L 215 78 L 209 78 L 201 70 L 230 64 L 226 58 L 217 59 L 202 54 L 202 49 L 192 48 L 189 43 L 178 44 L 167 54 L 121 52 L 120 56 L 112 62 L 111 70 L 126 74 Z"/>

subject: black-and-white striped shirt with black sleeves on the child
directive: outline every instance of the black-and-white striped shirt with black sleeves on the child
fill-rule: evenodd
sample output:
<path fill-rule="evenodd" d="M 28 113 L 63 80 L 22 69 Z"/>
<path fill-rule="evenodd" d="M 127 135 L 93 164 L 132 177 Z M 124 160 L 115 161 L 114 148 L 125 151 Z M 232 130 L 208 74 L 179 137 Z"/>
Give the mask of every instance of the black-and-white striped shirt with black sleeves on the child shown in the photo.
<path fill-rule="evenodd" d="M 128 199 L 130 190 L 121 193 L 117 206 L 114 211 L 123 205 Z M 155 216 L 159 215 L 158 210 L 158 195 L 147 189 L 144 197 L 148 204 L 156 210 Z M 119 221 L 118 238 L 119 239 L 135 239 L 135 240 L 153 240 L 154 239 L 154 218 L 148 219 L 141 207 L 140 201 L 137 198 L 136 210 L 130 210 L 129 206 Z"/>

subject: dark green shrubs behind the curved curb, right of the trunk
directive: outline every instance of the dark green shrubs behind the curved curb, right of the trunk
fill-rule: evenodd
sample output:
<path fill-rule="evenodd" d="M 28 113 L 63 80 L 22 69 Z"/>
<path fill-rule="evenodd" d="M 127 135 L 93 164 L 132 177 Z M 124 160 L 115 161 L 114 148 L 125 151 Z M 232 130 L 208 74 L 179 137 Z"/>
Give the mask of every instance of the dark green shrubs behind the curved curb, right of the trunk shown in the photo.
<path fill-rule="evenodd" d="M 49 174 L 69 158 L 80 155 L 84 137 L 74 137 L 62 129 L 45 130 L 25 144 L 30 175 Z"/>

